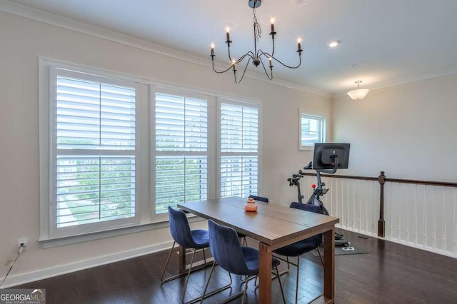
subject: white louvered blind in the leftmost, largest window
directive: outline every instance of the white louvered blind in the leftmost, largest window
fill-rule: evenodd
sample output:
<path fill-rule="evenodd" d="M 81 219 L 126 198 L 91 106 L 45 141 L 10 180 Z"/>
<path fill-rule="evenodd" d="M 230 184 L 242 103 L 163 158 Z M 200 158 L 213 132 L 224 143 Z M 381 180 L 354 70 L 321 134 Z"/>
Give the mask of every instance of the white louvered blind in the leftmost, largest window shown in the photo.
<path fill-rule="evenodd" d="M 136 83 L 120 82 L 51 74 L 54 228 L 136 216 Z"/>

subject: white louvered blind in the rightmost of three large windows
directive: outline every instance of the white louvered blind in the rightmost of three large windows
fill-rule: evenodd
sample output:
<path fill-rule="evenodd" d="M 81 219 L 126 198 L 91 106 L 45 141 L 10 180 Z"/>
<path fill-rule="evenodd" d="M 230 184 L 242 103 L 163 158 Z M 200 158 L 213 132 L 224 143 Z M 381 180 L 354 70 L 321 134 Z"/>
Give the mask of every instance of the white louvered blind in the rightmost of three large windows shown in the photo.
<path fill-rule="evenodd" d="M 258 192 L 258 106 L 221 103 L 220 196 Z"/>

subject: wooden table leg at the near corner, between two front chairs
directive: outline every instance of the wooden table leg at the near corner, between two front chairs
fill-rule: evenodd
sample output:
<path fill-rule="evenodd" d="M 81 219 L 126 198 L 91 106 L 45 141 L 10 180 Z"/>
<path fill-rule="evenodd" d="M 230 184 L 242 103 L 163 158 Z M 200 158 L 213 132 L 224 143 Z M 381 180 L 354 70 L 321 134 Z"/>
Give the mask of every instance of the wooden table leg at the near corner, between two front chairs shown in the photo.
<path fill-rule="evenodd" d="M 271 247 L 258 243 L 258 303 L 271 304 Z"/>

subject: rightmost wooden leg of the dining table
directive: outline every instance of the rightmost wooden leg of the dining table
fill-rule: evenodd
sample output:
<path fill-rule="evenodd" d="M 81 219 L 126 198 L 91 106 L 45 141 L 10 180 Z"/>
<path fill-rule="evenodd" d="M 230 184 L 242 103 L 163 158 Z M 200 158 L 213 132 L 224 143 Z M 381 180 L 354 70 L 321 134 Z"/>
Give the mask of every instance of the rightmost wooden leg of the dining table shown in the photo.
<path fill-rule="evenodd" d="M 323 233 L 323 296 L 325 297 L 326 303 L 334 303 L 335 228 Z"/>

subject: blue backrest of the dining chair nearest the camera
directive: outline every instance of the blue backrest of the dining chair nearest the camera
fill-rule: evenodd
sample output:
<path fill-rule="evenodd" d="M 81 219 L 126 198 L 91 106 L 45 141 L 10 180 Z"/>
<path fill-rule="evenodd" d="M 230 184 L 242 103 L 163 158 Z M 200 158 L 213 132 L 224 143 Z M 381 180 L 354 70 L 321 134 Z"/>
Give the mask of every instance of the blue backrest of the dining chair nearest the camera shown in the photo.
<path fill-rule="evenodd" d="M 208 221 L 208 228 L 209 248 L 216 263 L 229 273 L 248 274 L 249 269 L 246 266 L 236 231 L 233 228 L 221 226 L 212 220 Z"/>

